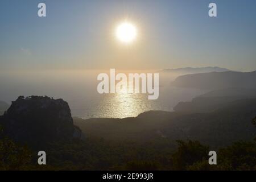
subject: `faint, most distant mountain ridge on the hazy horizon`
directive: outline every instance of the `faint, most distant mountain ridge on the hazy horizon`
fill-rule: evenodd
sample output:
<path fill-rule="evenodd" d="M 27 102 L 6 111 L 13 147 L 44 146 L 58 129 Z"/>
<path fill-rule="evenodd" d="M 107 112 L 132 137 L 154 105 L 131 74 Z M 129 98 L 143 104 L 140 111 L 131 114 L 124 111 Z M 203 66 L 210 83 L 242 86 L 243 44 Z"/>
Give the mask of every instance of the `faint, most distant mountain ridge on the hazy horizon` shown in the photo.
<path fill-rule="evenodd" d="M 220 67 L 202 67 L 202 68 L 192 68 L 192 67 L 186 67 L 186 68 L 174 68 L 174 69 L 163 69 L 161 72 L 171 72 L 171 73 L 187 73 L 187 74 L 193 74 L 193 73 L 209 73 L 209 72 L 228 72 L 229 69 L 226 68 L 220 68 Z"/>

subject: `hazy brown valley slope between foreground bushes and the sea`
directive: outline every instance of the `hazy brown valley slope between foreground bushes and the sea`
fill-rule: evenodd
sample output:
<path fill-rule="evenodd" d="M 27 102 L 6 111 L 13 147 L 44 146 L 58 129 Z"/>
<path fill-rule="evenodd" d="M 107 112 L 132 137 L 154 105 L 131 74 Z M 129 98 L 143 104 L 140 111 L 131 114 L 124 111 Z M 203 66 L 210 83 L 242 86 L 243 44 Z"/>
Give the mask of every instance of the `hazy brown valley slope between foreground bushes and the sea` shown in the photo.
<path fill-rule="evenodd" d="M 74 122 L 88 136 L 109 140 L 147 141 L 157 138 L 192 139 L 224 146 L 236 140 L 251 140 L 255 128 L 256 99 L 234 101 L 212 113 L 185 114 L 148 111 L 136 118 L 75 118 Z"/>

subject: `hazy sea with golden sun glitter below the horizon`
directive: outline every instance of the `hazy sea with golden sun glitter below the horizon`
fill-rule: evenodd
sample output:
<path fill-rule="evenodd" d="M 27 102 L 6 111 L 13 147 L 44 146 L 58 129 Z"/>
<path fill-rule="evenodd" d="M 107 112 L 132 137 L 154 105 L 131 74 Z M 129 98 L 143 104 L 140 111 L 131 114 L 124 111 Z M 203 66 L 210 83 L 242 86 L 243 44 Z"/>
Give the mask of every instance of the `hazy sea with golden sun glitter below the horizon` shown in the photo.
<path fill-rule="evenodd" d="M 67 101 L 73 117 L 126 118 L 149 110 L 172 111 L 180 101 L 191 101 L 206 92 L 172 87 L 170 82 L 176 76 L 160 73 L 158 100 L 148 100 L 148 94 L 99 94 L 97 75 L 102 72 L 109 74 L 109 70 L 1 72 L 0 100 L 11 104 L 18 96 L 49 96 Z"/>

